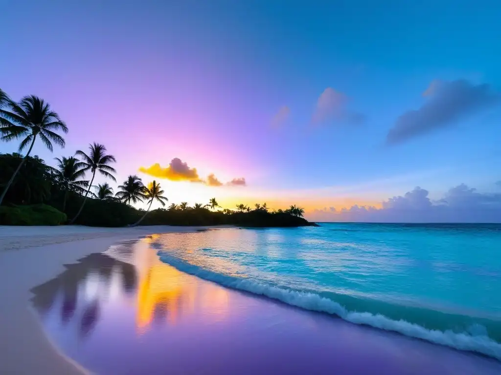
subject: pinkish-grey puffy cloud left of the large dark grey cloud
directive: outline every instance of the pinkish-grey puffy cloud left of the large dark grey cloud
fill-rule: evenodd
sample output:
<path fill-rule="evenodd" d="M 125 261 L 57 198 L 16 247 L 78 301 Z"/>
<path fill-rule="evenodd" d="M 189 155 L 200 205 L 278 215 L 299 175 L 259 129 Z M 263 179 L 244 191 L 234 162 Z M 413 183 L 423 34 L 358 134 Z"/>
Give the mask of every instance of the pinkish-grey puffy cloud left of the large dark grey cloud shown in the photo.
<path fill-rule="evenodd" d="M 349 111 L 347 104 L 348 97 L 344 93 L 336 91 L 332 87 L 327 87 L 318 97 L 312 122 L 315 124 L 328 121 L 352 124 L 364 122 L 365 115 Z"/>

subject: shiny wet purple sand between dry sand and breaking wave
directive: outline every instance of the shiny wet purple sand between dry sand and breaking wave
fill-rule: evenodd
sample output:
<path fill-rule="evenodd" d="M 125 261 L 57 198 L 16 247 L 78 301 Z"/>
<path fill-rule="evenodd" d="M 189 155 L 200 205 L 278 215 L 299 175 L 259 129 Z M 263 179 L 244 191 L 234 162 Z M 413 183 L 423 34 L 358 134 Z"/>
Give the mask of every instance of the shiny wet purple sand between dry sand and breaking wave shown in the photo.
<path fill-rule="evenodd" d="M 169 234 L 182 242 L 182 234 Z M 230 290 L 150 238 L 87 253 L 32 288 L 53 342 L 96 373 L 499 374 L 501 362 Z"/>

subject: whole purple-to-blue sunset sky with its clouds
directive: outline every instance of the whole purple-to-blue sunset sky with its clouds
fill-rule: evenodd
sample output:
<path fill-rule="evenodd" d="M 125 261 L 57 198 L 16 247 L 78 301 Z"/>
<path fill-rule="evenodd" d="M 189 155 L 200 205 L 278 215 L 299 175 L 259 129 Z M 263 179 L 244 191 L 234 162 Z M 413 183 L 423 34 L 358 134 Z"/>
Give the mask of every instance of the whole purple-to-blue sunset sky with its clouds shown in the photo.
<path fill-rule="evenodd" d="M 2 0 L 0 87 L 169 202 L 501 221 L 499 1 Z M 17 143 L 0 143 L 14 152 Z M 97 182 L 103 182 L 99 179 Z M 116 189 L 117 183 L 109 181 Z"/>

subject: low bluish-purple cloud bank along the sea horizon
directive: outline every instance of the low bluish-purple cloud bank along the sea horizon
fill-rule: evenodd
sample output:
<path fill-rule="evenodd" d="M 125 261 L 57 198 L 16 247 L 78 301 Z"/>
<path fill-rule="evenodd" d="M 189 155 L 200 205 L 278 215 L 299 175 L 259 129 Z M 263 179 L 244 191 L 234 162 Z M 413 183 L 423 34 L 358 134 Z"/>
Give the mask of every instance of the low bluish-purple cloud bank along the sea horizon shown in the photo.
<path fill-rule="evenodd" d="M 336 210 L 316 209 L 314 220 L 355 222 L 501 222 L 501 193 L 478 192 L 464 183 L 451 187 L 432 201 L 428 191 L 415 187 L 382 207 L 353 205 Z"/>

